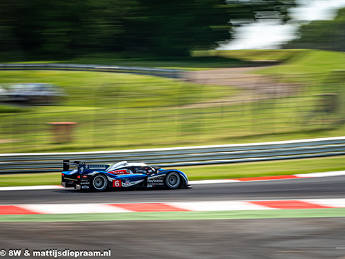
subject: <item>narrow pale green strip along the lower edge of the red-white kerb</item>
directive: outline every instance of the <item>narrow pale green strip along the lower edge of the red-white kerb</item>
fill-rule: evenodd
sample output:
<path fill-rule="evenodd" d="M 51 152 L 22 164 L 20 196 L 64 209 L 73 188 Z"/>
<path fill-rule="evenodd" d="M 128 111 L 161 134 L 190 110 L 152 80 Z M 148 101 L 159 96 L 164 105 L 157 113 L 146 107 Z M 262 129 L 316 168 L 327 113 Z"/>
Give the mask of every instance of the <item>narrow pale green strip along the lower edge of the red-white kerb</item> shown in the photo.
<path fill-rule="evenodd" d="M 0 215 L 0 222 L 88 222 L 128 220 L 235 220 L 255 218 L 344 217 L 345 209 L 288 209 L 253 211 L 173 211 L 120 213 L 75 213 L 46 215 Z"/>

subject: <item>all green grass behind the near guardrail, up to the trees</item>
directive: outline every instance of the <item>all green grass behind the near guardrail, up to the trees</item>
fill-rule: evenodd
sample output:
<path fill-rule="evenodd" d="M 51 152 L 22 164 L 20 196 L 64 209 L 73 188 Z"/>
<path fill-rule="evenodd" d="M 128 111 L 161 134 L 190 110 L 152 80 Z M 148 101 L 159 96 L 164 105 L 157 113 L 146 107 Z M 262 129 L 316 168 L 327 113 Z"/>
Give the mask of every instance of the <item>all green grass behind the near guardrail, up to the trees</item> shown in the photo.
<path fill-rule="evenodd" d="M 80 60 L 85 63 L 95 63 L 98 60 L 99 64 L 105 61 L 108 64 L 130 62 L 128 65 L 132 66 L 164 67 L 173 64 L 201 69 L 211 64 L 220 66 L 219 59 L 212 57 L 215 53 L 199 52 L 199 55 L 208 56 L 195 59 L 125 60 L 95 56 Z M 273 60 L 278 57 L 286 60 L 282 65 L 259 73 L 272 75 L 313 71 L 317 74 L 283 77 L 284 81 L 299 82 L 304 91 L 286 98 L 195 106 L 200 102 L 236 99 L 237 95 L 243 93 L 246 93 L 248 99 L 256 99 L 257 96 L 228 86 L 191 84 L 188 81 L 143 75 L 0 71 L 0 84 L 5 87 L 18 82 L 46 82 L 57 84 L 68 93 L 68 97 L 59 106 L 0 106 L 0 153 L 237 144 L 344 135 L 342 119 L 345 103 L 339 102 L 337 113 L 319 114 L 315 112 L 319 101 L 317 95 L 314 95 L 337 93 L 335 91 L 340 89 L 339 99 L 344 99 L 345 88 L 342 81 L 317 83 L 326 78 L 324 72 L 345 66 L 343 52 L 241 50 L 222 51 L 221 55 L 236 55 L 236 58 L 246 60 Z M 70 63 L 79 63 L 80 60 Z M 57 143 L 50 122 L 77 122 L 71 141 Z"/>

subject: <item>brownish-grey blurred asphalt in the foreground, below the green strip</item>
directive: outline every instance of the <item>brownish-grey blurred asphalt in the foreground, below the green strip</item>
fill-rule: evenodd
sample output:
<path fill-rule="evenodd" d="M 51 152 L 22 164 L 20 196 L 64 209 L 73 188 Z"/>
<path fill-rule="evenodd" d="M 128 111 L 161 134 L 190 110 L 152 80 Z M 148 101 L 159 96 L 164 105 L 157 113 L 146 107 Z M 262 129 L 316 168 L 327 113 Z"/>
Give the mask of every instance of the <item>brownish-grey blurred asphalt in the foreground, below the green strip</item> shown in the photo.
<path fill-rule="evenodd" d="M 344 218 L 6 222 L 0 249 L 110 249 L 111 258 L 144 259 L 343 258 L 344 228 Z"/>

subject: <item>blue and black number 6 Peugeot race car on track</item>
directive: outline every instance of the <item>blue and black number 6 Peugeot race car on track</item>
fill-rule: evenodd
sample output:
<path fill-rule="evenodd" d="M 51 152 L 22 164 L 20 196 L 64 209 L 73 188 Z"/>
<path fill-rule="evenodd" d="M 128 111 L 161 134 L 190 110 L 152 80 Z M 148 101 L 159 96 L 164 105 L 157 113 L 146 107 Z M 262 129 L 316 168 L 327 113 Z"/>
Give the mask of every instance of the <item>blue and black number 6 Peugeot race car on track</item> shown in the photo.
<path fill-rule="evenodd" d="M 70 170 L 71 166 L 75 169 Z M 61 185 L 77 190 L 130 188 L 191 188 L 187 175 L 176 169 L 164 170 L 139 162 L 122 161 L 112 166 L 108 164 L 86 164 L 81 161 L 63 160 Z"/>

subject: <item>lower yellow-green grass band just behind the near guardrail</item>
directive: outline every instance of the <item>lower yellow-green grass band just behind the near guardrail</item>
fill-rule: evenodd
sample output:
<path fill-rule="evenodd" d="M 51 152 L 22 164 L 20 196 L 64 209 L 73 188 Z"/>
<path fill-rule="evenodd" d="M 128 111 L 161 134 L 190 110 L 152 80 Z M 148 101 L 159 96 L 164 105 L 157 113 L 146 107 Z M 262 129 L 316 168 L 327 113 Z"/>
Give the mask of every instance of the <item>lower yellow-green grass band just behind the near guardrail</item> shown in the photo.
<path fill-rule="evenodd" d="M 288 100 L 290 102 L 290 100 Z M 248 105 L 248 104 L 246 104 Z M 102 151 L 204 144 L 272 142 L 344 134 L 332 117 L 308 121 L 296 103 L 282 104 L 275 114 L 210 108 L 101 108 L 58 106 L 1 115 L 1 152 Z M 284 105 L 290 105 L 286 108 Z M 295 117 L 296 113 L 303 115 Z M 270 119 L 270 117 L 274 119 Z M 334 120 L 337 117 L 333 118 Z M 78 122 L 71 140 L 56 143 L 50 122 Z M 315 128 L 319 128 L 316 129 Z M 6 133 L 7 130 L 8 132 Z M 6 142 L 7 140 L 7 142 Z"/>

